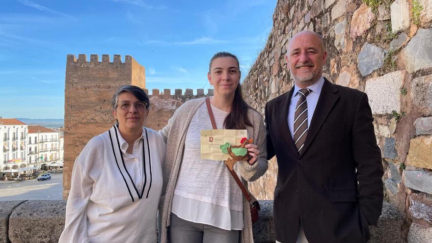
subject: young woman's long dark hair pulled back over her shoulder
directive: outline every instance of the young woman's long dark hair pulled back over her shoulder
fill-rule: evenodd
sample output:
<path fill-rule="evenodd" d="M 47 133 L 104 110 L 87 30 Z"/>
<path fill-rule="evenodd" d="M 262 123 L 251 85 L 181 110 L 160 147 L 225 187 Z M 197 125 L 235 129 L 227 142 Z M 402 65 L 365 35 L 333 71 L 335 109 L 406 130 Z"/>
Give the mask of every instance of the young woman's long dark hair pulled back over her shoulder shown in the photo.
<path fill-rule="evenodd" d="M 219 57 L 232 57 L 236 59 L 240 75 L 239 59 L 236 55 L 227 52 L 216 53 L 212 57 L 212 59 L 210 59 L 209 73 L 211 72 L 213 60 Z M 246 125 L 251 127 L 252 123 L 247 117 L 247 110 L 249 108 L 251 107 L 247 105 L 247 103 L 243 100 L 242 87 L 239 81 L 239 84 L 237 85 L 236 91 L 234 93 L 234 101 L 231 112 L 226 116 L 225 121 L 223 122 L 223 126 L 225 127 L 225 129 L 246 129 Z"/>

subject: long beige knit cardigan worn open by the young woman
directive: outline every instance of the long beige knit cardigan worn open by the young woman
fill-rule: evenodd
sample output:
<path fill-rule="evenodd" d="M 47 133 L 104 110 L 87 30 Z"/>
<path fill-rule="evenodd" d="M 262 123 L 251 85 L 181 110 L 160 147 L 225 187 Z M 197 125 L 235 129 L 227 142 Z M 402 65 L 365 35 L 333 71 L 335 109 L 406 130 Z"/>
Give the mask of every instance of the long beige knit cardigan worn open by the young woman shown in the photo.
<path fill-rule="evenodd" d="M 166 142 L 165 162 L 162 164 L 163 186 L 161 201 L 159 203 L 159 225 L 160 225 L 160 243 L 167 242 L 167 227 L 170 225 L 170 213 L 172 198 L 177 182 L 177 176 L 183 158 L 186 133 L 188 131 L 190 120 L 196 110 L 205 102 L 205 98 L 189 100 L 178 108 L 174 115 L 169 119 L 166 125 L 159 133 Z M 266 129 L 261 114 L 254 109 L 248 109 L 247 115 L 253 127 L 247 127 L 249 138 L 254 139 L 254 144 L 260 151 L 258 161 L 253 165 L 247 162 L 239 162 L 237 167 L 242 175 L 242 182 L 247 189 L 246 181 L 255 181 L 262 176 L 267 168 L 267 143 Z M 210 119 L 210 117 L 209 117 Z M 252 222 L 249 211 L 249 203 L 243 196 L 243 231 L 241 234 L 241 243 L 253 243 Z"/>

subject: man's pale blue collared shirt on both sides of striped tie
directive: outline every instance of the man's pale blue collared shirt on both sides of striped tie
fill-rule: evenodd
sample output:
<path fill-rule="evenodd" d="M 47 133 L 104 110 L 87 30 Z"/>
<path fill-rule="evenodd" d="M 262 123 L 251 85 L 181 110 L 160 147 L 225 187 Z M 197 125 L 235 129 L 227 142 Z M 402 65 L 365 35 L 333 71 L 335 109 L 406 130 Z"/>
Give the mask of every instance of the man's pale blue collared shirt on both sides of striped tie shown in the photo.
<path fill-rule="evenodd" d="M 315 108 L 317 107 L 318 99 L 320 98 L 321 89 L 323 88 L 324 78 L 321 76 L 318 81 L 307 87 L 311 92 L 306 96 L 307 103 L 307 127 L 310 127 L 312 116 L 314 115 Z M 297 101 L 300 95 L 297 91 L 301 88 L 297 87 L 294 83 L 294 92 L 291 96 L 290 107 L 288 108 L 288 128 L 290 129 L 291 138 L 294 139 L 294 113 L 296 111 Z"/>

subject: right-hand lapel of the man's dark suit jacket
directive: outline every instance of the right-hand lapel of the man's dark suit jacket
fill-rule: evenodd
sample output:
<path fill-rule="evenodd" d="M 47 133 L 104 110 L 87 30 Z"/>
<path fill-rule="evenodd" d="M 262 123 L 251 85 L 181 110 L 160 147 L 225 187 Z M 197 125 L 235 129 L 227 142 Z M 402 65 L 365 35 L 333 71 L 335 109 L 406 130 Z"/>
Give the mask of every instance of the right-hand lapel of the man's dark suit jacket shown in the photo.
<path fill-rule="evenodd" d="M 321 89 L 320 98 L 318 99 L 314 115 L 312 116 L 306 140 L 304 141 L 304 146 L 301 150 L 301 155 L 303 155 L 309 148 L 309 145 L 312 143 L 318 131 L 320 131 L 331 109 L 339 99 L 337 92 L 337 88 L 330 81 L 324 78 L 323 88 Z"/>

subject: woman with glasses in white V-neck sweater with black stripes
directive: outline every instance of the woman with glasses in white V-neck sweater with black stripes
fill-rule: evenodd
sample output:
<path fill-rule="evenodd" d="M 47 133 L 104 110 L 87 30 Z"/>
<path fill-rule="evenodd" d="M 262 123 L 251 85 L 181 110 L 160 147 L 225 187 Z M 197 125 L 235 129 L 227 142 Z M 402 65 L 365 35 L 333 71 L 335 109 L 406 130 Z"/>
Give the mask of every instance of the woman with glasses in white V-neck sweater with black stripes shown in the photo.
<path fill-rule="evenodd" d="M 111 99 L 117 123 L 75 161 L 60 243 L 155 243 L 165 142 L 144 127 L 149 97 L 133 85 Z"/>

